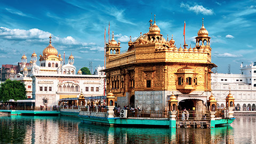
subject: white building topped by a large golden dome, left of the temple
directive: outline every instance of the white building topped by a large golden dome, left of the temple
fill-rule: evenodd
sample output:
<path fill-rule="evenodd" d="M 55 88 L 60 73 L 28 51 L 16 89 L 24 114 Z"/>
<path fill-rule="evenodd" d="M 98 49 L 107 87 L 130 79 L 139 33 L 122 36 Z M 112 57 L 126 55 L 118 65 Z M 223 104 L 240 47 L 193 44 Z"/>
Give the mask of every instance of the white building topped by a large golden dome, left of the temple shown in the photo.
<path fill-rule="evenodd" d="M 87 97 L 103 95 L 104 73 L 103 68 L 98 68 L 98 75 L 82 75 L 82 71 L 74 66 L 74 57 L 71 54 L 68 63 L 65 65 L 61 54 L 51 44 L 40 54 L 39 66 L 37 54 L 31 55 L 30 65 L 26 66 L 27 57 L 24 54 L 21 58 L 21 73 L 14 75 L 11 70 L 12 79 L 22 81 L 26 85 L 27 98 L 35 99 L 35 105 L 58 105 L 59 99 L 77 98 L 83 90 Z"/>

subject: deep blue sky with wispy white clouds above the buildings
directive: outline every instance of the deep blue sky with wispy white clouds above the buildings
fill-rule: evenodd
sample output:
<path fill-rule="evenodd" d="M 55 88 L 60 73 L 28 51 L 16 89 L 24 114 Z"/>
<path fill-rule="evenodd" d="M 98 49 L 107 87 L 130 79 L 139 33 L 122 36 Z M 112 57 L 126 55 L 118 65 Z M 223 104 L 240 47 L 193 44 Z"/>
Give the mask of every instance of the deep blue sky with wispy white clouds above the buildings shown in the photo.
<path fill-rule="evenodd" d="M 209 31 L 212 62 L 219 73 L 239 73 L 239 64 L 256 61 L 256 1 L 0 1 L 0 64 L 17 64 L 25 52 L 30 61 L 49 44 L 66 58 L 75 57 L 77 69 L 103 66 L 104 28 L 108 39 L 114 31 L 127 50 L 130 36 L 147 33 L 151 13 L 167 38 L 183 43 L 186 21 L 187 44 L 195 46 L 194 37 L 202 26 Z M 67 59 L 65 60 L 67 62 Z"/>

